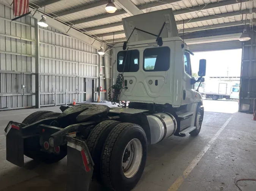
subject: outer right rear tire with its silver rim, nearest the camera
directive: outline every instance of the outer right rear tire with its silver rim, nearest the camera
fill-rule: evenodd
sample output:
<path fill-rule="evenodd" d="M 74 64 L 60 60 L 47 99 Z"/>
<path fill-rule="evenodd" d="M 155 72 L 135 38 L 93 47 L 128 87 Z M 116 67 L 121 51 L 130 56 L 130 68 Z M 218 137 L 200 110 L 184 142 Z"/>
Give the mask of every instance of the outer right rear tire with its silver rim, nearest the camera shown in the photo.
<path fill-rule="evenodd" d="M 147 138 L 141 126 L 120 123 L 110 131 L 101 158 L 101 177 L 114 191 L 130 191 L 140 180 L 147 157 Z"/>

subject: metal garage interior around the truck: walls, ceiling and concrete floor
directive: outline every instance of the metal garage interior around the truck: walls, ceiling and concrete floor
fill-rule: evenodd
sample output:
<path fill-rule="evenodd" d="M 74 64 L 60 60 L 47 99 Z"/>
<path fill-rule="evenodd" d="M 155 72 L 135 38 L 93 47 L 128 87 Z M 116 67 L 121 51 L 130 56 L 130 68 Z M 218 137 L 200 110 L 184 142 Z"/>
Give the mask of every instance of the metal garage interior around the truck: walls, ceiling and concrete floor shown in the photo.
<path fill-rule="evenodd" d="M 117 10 L 107 13 L 107 0 L 29 0 L 31 13 L 11 21 L 12 1 L 0 0 L 0 190 L 65 189 L 66 159 L 39 165 L 27 157 L 25 168 L 12 165 L 5 160 L 3 129 L 14 117 L 21 122 L 40 109 L 57 111 L 57 106 L 97 102 L 98 97 L 108 100 L 111 79 L 115 79 L 112 47 L 127 40 L 122 18 L 168 8 L 173 9 L 179 35 L 190 51 L 242 49 L 240 112 L 206 112 L 205 130 L 199 137 L 174 137 L 149 146 L 143 176 L 134 190 L 239 190 L 235 180 L 256 176 L 256 124 L 243 113 L 254 107 L 256 98 L 256 2 L 113 3 Z M 37 24 L 42 14 L 48 27 Z M 244 29 L 251 40 L 240 42 Z M 98 54 L 101 48 L 104 55 Z M 256 185 L 243 182 L 240 188 L 252 191 Z"/>

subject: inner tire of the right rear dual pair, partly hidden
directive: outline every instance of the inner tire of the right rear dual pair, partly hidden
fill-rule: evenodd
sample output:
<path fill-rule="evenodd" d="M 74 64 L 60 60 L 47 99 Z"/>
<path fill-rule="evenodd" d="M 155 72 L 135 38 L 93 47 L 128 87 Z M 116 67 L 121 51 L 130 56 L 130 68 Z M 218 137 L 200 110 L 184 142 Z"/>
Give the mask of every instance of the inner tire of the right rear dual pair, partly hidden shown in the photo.
<path fill-rule="evenodd" d="M 87 139 L 87 146 L 94 162 L 94 176 L 101 182 L 101 154 L 104 142 L 107 139 L 109 132 L 120 122 L 106 120 L 98 125 L 90 132 Z"/>

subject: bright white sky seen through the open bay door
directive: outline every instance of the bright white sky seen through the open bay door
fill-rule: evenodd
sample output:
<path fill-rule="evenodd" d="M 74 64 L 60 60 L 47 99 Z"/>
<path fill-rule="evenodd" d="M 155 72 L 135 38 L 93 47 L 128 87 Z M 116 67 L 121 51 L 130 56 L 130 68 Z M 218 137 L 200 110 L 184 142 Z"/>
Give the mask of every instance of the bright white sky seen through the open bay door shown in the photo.
<path fill-rule="evenodd" d="M 240 76 L 242 49 L 195 52 L 190 55 L 192 71 L 198 72 L 199 60 L 206 59 L 206 76 Z M 228 75 L 227 75 L 228 71 Z"/>

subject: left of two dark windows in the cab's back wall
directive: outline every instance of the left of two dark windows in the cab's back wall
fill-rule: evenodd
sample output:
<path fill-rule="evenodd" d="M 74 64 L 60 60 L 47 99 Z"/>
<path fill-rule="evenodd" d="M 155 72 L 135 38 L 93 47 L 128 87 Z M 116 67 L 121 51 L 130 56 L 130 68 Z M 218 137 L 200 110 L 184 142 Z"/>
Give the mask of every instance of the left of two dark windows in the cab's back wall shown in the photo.
<path fill-rule="evenodd" d="M 118 72 L 137 72 L 139 69 L 138 50 L 120 51 L 117 54 L 117 71 Z"/>

